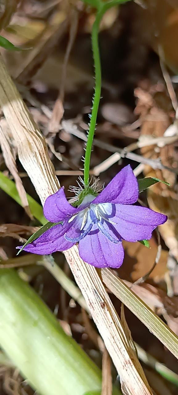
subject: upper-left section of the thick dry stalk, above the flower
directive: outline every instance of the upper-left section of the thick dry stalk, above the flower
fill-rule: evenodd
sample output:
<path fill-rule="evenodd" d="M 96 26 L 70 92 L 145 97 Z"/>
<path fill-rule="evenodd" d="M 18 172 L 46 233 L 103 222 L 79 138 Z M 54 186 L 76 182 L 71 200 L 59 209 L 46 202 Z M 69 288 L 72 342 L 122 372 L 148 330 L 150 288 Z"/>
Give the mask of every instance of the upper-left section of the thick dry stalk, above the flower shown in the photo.
<path fill-rule="evenodd" d="M 1 57 L 0 105 L 18 147 L 19 160 L 44 203 L 59 189 L 54 167 L 40 129 L 32 119 Z"/>

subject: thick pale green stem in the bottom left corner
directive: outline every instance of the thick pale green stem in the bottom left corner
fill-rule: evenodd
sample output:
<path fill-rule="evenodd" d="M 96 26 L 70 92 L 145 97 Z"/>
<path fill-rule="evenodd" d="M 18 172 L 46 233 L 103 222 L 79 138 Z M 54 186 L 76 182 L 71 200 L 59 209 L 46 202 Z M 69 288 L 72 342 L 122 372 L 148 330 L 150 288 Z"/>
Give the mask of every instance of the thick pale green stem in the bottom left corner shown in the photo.
<path fill-rule="evenodd" d="M 38 394 L 101 391 L 100 369 L 13 269 L 0 270 L 0 301 L 0 347 Z"/>

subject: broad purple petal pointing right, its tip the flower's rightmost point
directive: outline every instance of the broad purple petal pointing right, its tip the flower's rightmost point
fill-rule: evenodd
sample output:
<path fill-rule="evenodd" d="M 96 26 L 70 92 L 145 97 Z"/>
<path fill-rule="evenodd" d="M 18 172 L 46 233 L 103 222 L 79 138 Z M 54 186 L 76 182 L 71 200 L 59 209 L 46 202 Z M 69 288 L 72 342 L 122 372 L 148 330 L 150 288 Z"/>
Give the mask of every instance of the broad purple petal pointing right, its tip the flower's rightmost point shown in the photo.
<path fill-rule="evenodd" d="M 113 227 L 127 241 L 151 239 L 152 231 L 167 221 L 167 216 L 146 207 L 117 205 Z"/>

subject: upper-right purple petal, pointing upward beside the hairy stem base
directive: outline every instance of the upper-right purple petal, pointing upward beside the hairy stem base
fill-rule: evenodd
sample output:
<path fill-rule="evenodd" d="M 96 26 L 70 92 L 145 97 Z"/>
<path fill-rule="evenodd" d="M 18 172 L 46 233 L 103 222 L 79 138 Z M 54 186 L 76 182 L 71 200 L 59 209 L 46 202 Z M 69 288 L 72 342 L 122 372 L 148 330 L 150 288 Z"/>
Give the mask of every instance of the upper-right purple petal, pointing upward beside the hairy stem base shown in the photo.
<path fill-rule="evenodd" d="M 138 200 L 138 182 L 131 166 L 125 166 L 93 200 L 98 203 L 132 204 Z"/>

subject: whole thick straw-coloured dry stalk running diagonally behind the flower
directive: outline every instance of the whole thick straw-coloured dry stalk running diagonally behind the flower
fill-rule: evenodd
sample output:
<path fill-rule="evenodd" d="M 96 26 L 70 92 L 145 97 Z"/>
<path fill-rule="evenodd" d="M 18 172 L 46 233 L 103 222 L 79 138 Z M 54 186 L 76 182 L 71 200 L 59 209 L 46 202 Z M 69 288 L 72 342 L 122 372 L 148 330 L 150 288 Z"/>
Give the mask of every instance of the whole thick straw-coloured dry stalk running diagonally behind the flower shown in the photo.
<path fill-rule="evenodd" d="M 19 159 L 44 203 L 47 196 L 59 189 L 59 182 L 49 159 L 44 138 L 13 84 L 1 56 L 0 105 L 17 143 Z M 64 251 L 64 254 L 127 393 L 152 394 L 97 271 L 81 260 L 76 245 Z"/>

